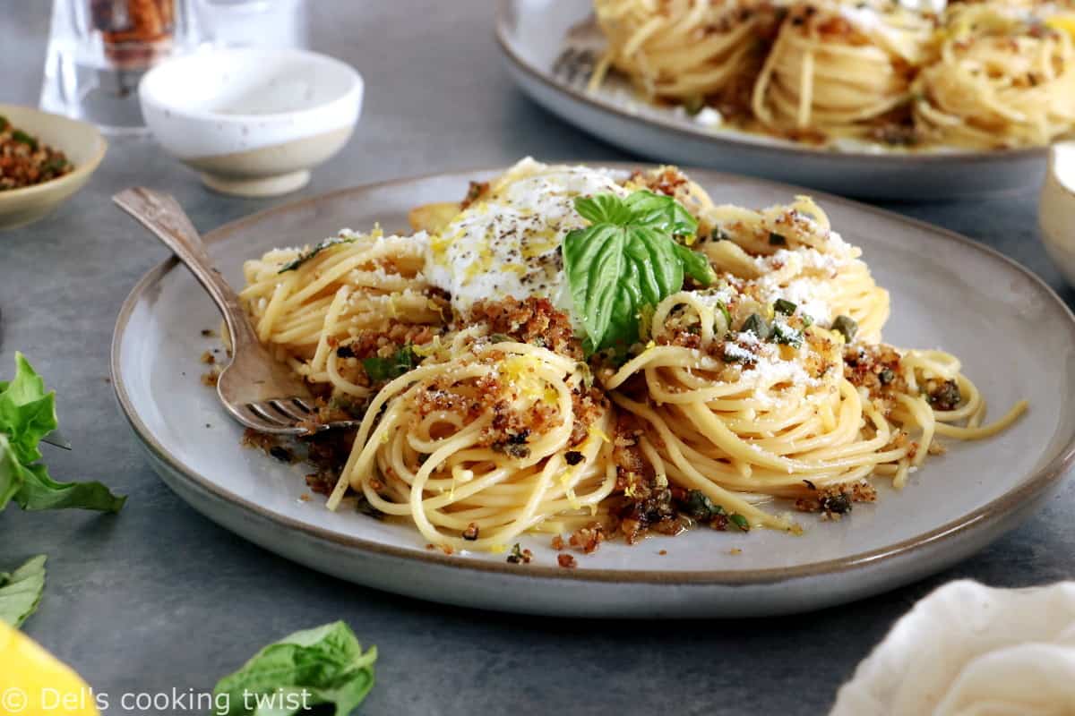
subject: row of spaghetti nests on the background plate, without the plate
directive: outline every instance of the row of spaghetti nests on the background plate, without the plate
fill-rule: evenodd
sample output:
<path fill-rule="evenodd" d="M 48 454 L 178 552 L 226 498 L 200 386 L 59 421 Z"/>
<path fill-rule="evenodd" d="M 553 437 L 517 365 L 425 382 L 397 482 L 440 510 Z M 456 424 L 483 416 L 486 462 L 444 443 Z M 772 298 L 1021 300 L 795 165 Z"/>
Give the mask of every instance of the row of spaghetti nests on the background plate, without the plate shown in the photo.
<path fill-rule="evenodd" d="M 1062 3 L 957 0 L 935 14 L 888 0 L 594 0 L 594 11 L 607 45 L 591 89 L 615 70 L 651 101 L 708 105 L 748 130 L 990 149 L 1075 126 Z"/>

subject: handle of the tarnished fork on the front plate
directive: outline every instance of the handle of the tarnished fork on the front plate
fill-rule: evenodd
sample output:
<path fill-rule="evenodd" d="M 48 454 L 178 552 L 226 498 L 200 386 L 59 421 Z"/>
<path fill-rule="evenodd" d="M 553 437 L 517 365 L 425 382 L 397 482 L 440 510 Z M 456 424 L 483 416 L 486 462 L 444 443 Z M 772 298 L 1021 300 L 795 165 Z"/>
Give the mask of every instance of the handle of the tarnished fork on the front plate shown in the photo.
<path fill-rule="evenodd" d="M 120 191 L 112 201 L 163 242 L 205 287 L 224 315 L 233 352 L 240 351 L 247 344 L 258 344 L 239 296 L 213 266 L 201 236 L 171 194 L 133 187 Z"/>

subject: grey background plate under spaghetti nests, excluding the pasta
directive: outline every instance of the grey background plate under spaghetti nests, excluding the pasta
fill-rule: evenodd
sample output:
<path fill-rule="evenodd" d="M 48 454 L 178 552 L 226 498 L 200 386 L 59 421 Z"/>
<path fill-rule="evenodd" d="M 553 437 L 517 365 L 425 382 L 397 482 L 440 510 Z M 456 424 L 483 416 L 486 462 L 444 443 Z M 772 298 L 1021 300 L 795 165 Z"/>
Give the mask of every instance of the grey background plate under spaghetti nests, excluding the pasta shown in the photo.
<path fill-rule="evenodd" d="M 1044 147 L 904 151 L 878 145 L 815 148 L 732 128 L 706 128 L 653 106 L 628 83 L 586 89 L 586 72 L 564 62 L 569 46 L 600 48 L 588 0 L 500 0 L 497 40 L 519 87 L 546 109 L 594 136 L 655 161 L 704 165 L 848 196 L 937 200 L 1037 187 Z"/>

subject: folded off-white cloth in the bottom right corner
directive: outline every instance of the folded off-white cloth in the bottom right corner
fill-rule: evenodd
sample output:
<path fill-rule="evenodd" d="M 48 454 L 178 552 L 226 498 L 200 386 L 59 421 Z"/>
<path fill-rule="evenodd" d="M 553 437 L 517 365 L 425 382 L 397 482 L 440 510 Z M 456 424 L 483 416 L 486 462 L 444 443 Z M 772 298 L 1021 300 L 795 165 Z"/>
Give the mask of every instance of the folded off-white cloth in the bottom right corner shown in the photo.
<path fill-rule="evenodd" d="M 951 582 L 905 614 L 830 716 L 1075 715 L 1075 582 Z"/>

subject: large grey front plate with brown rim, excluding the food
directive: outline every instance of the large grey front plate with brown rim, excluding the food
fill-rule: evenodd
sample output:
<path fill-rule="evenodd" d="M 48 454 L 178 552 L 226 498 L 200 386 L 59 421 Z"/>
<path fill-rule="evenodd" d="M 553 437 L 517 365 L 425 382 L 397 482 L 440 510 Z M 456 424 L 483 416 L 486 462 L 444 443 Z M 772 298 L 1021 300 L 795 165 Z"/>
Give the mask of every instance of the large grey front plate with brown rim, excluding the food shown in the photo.
<path fill-rule="evenodd" d="M 630 169 L 622 165 L 624 169 Z M 264 211 L 209 234 L 233 286 L 242 263 L 343 227 L 404 231 L 416 204 L 462 196 L 470 179 L 441 175 L 348 189 Z M 691 172 L 718 202 L 765 206 L 803 190 Z M 199 379 L 219 317 L 175 261 L 149 272 L 120 311 L 113 340 L 119 404 L 154 469 L 195 509 L 261 546 L 346 580 L 453 604 L 574 616 L 736 616 L 799 612 L 911 582 L 970 555 L 1021 520 L 1075 461 L 1075 319 L 1036 277 L 956 234 L 845 200 L 819 198 L 833 225 L 862 247 L 892 294 L 885 338 L 942 347 L 1003 413 L 1030 411 L 981 442 L 952 443 L 900 493 L 841 522 L 802 515 L 800 537 L 694 530 L 630 546 L 607 542 L 577 569 L 557 566 L 547 536 L 524 536 L 529 565 L 504 554 L 444 555 L 411 527 L 332 513 L 307 495 L 301 465 L 240 447 L 242 430 Z M 666 554 L 665 554 L 666 553 Z"/>

